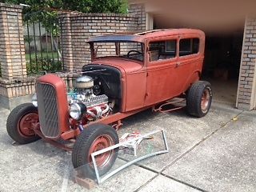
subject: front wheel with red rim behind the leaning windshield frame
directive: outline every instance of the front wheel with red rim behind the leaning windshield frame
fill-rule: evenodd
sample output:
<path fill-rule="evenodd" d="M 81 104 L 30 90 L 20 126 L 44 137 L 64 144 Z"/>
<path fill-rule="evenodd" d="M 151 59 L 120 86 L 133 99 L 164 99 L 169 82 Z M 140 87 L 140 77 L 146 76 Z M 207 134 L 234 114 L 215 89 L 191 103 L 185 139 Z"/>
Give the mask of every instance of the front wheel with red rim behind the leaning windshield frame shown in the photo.
<path fill-rule="evenodd" d="M 87 178 L 96 178 L 91 154 L 106 147 L 118 144 L 118 134 L 111 126 L 93 124 L 88 126 L 78 136 L 74 143 L 72 162 L 74 168 L 82 166 L 82 172 Z M 95 156 L 99 175 L 106 174 L 118 157 L 118 149 L 110 150 Z"/>

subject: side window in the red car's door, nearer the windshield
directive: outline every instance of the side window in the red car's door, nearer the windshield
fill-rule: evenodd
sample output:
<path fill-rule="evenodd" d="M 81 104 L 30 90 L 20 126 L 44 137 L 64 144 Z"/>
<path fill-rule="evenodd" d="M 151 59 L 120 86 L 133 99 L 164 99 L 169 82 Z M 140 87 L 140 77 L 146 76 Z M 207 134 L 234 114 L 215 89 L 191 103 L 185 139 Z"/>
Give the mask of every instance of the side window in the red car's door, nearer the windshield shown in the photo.
<path fill-rule="evenodd" d="M 176 57 L 177 40 L 150 42 L 150 62 Z"/>

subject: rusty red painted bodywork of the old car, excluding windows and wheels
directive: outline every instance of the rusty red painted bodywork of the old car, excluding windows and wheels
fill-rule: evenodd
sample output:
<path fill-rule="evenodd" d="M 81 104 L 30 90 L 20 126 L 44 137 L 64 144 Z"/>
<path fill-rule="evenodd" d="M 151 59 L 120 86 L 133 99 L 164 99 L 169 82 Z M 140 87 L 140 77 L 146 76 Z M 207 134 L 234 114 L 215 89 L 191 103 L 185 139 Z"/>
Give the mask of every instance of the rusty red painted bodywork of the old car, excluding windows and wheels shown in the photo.
<path fill-rule="evenodd" d="M 179 57 L 179 40 L 182 38 L 198 38 L 199 50 L 197 54 Z M 174 58 L 159 59 L 150 62 L 150 42 L 177 41 L 177 51 Z M 94 52 L 94 44 L 98 42 L 141 42 L 144 46 L 143 61 L 135 61 L 129 58 L 101 57 L 97 58 Z M 110 34 L 93 37 L 88 40 L 92 55 L 93 65 L 112 66 L 122 74 L 122 104 L 120 110 L 105 118 L 91 123 L 111 124 L 118 122 L 139 111 L 154 107 L 170 98 L 178 97 L 197 82 L 202 72 L 204 59 L 205 34 L 201 30 L 152 30 L 138 34 Z M 63 139 L 78 136 L 78 126 L 75 129 L 68 128 L 68 105 L 66 101 L 66 88 L 61 80 L 53 74 L 46 74 L 38 78 L 38 82 L 51 83 L 56 87 L 58 101 L 58 116 Z M 62 86 L 58 86 L 62 84 Z M 115 125 L 117 125 L 116 123 Z"/>

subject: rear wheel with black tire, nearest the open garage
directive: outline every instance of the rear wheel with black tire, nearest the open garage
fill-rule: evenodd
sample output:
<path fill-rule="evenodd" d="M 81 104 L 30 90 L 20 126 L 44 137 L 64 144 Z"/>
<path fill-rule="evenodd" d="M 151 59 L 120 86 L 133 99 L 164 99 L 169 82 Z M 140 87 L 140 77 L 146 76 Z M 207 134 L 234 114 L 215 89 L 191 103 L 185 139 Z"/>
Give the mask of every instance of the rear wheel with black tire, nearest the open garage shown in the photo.
<path fill-rule="evenodd" d="M 186 94 L 186 111 L 194 117 L 202 118 L 209 112 L 211 102 L 210 82 L 195 82 Z"/>

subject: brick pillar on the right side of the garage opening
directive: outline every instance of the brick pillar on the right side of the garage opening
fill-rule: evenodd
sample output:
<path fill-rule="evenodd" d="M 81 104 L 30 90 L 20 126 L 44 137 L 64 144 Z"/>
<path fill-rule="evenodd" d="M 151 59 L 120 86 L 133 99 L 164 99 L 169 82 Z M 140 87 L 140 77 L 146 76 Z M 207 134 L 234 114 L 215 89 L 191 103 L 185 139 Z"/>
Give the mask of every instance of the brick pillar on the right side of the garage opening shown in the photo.
<path fill-rule="evenodd" d="M 238 81 L 237 107 L 241 110 L 255 108 L 256 19 L 247 18 L 245 24 L 242 59 Z"/>

